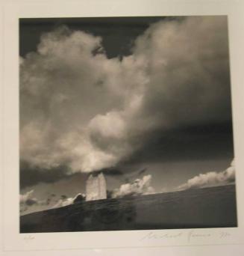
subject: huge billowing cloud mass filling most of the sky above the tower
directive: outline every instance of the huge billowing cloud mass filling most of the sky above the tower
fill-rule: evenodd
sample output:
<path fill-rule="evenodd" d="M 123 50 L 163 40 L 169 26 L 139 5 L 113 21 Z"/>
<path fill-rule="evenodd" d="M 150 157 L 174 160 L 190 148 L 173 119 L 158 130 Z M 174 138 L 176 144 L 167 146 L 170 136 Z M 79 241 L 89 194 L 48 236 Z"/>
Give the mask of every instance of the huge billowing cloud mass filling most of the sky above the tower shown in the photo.
<path fill-rule="evenodd" d="M 169 129 L 229 121 L 228 68 L 225 16 L 157 22 L 122 60 L 83 31 L 43 34 L 20 61 L 20 158 L 98 171 Z"/>

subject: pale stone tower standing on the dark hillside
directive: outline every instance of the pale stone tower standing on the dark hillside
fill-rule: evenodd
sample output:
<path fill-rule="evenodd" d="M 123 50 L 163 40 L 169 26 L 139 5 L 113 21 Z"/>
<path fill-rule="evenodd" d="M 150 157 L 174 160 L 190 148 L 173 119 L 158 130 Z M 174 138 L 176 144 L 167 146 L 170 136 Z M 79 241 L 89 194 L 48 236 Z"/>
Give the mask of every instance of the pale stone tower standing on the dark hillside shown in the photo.
<path fill-rule="evenodd" d="M 90 174 L 86 184 L 86 201 L 107 198 L 107 185 L 104 174 Z"/>

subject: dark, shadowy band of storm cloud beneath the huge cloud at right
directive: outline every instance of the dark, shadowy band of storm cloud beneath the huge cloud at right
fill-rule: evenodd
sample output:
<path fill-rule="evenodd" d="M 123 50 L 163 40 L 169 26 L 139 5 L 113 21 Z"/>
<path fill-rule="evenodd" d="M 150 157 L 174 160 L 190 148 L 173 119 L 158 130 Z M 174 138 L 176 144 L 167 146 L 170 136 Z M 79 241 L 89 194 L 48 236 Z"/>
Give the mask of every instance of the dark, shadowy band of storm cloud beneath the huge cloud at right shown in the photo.
<path fill-rule="evenodd" d="M 184 127 L 148 134 L 148 139 L 127 163 L 180 160 L 231 159 L 234 157 L 232 124 Z"/>

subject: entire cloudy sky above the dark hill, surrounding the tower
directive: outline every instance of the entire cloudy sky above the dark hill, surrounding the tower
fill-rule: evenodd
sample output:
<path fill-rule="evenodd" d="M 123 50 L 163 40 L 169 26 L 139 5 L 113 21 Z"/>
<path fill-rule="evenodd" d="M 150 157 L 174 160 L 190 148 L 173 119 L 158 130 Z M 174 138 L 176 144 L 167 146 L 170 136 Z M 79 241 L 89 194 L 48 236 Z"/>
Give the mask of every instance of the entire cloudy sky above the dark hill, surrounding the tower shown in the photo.
<path fill-rule="evenodd" d="M 19 55 L 22 213 L 234 181 L 226 16 L 20 19 Z"/>

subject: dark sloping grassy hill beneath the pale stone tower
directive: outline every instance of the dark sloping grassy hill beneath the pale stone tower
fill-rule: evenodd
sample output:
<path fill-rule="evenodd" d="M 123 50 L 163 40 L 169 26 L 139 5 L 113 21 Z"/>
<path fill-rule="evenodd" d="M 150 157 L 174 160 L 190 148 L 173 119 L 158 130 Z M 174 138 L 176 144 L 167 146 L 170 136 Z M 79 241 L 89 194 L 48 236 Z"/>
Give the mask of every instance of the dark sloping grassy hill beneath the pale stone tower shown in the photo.
<path fill-rule="evenodd" d="M 20 216 L 20 233 L 236 226 L 235 185 L 85 201 Z"/>

